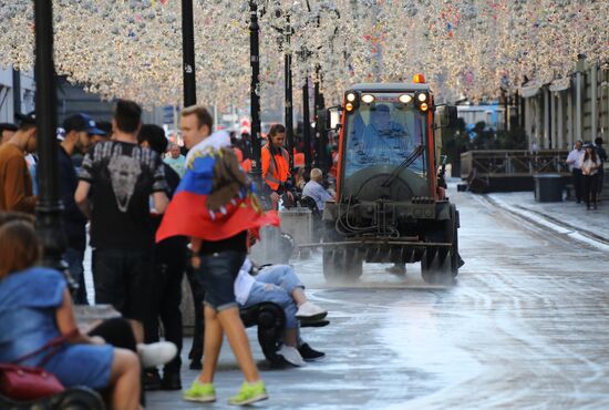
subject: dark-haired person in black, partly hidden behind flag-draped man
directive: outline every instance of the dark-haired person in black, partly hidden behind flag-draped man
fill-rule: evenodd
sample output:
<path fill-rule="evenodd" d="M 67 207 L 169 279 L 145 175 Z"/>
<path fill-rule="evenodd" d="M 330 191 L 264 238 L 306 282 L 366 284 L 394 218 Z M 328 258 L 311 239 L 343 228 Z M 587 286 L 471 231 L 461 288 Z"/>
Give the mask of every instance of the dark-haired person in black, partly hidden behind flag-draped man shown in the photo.
<path fill-rule="evenodd" d="M 165 132 L 158 125 L 144 124 L 137 136 L 140 144 L 149 147 L 158 155 L 167 150 L 167 139 Z M 175 145 L 175 144 L 174 144 Z M 179 153 L 179 147 L 175 145 Z M 165 180 L 167 182 L 167 196 L 174 195 L 178 184 L 179 175 L 173 167 L 163 163 Z M 161 216 L 153 215 L 154 230 L 161 225 Z M 158 318 L 163 324 L 165 340 L 173 342 L 177 347 L 176 357 L 165 365 L 163 369 L 163 379 L 159 378 L 156 368 L 147 369 L 144 377 L 144 388 L 146 390 L 179 390 L 182 380 L 179 369 L 182 360 L 179 358 L 183 345 L 182 332 L 182 279 L 186 270 L 186 237 L 173 236 L 154 246 L 154 275 L 152 283 L 154 286 L 154 301 L 152 314 L 148 321 L 144 324 L 145 342 L 153 344 L 158 341 Z"/>

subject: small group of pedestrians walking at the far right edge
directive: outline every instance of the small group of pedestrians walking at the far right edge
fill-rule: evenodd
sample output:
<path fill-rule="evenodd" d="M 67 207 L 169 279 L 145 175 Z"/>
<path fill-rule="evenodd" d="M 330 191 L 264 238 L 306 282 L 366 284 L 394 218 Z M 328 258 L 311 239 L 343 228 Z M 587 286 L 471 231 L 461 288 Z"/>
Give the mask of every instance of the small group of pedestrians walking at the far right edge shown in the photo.
<path fill-rule="evenodd" d="M 575 147 L 567 156 L 567 165 L 571 168 L 575 196 L 578 204 L 582 202 L 586 208 L 598 208 L 598 196 L 602 192 L 605 178 L 603 164 L 607 162 L 607 151 L 602 139 L 597 137 L 595 144 L 584 144 L 576 141 Z"/>

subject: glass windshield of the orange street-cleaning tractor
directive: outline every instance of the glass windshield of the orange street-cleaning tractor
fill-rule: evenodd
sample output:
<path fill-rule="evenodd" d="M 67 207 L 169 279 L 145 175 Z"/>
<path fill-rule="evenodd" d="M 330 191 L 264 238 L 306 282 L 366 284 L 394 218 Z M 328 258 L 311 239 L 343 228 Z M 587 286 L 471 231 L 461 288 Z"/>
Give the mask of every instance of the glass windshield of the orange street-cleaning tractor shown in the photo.
<path fill-rule="evenodd" d="M 425 146 L 426 113 L 412 103 L 402 104 L 398 95 L 388 95 L 378 96 L 372 104 L 361 103 L 347 115 L 344 177 L 372 165 L 398 166 L 404 162 L 410 163 L 410 171 L 425 174 L 425 155 L 417 147 Z"/>

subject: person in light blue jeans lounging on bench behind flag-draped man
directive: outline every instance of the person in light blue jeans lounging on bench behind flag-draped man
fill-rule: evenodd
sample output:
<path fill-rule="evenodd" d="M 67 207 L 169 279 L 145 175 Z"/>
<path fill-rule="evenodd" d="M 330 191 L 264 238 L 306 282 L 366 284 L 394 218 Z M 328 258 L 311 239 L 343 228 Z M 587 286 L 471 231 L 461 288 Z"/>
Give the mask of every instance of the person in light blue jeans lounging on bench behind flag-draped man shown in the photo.
<path fill-rule="evenodd" d="M 299 336 L 299 321 L 322 320 L 328 312 L 307 299 L 304 285 L 288 265 L 272 265 L 251 276 L 254 265 L 246 258 L 235 280 L 235 296 L 240 307 L 271 301 L 286 314 L 283 346 L 277 352 L 290 365 L 304 366 L 304 360 L 318 360 L 326 355 L 303 344 Z"/>

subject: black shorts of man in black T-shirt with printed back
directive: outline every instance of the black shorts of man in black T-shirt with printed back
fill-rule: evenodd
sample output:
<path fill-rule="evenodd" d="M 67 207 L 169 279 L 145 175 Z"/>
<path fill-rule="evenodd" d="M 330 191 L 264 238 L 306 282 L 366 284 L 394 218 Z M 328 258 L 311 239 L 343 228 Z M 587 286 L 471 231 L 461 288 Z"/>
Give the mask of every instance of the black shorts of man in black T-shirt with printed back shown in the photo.
<path fill-rule="evenodd" d="M 95 304 L 110 304 L 125 318 L 145 321 L 153 304 L 149 250 L 94 249 Z"/>

